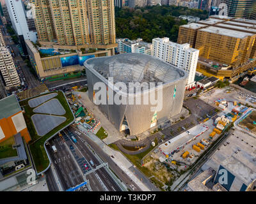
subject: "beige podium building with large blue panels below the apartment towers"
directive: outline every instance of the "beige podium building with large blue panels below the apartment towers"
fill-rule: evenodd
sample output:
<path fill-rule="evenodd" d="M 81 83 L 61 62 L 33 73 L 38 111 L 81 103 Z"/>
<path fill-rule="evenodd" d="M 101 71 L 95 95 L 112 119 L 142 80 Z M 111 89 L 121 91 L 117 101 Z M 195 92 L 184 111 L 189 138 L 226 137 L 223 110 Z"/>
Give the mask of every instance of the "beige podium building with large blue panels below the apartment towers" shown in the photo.
<path fill-rule="evenodd" d="M 112 45 L 109 45 L 110 47 Z M 31 65 L 41 80 L 51 80 L 52 77 L 65 77 L 81 73 L 83 62 L 91 57 L 103 57 L 111 55 L 108 45 L 99 45 L 102 48 L 86 48 L 82 46 L 65 46 L 46 43 L 39 47 L 26 40 Z"/>

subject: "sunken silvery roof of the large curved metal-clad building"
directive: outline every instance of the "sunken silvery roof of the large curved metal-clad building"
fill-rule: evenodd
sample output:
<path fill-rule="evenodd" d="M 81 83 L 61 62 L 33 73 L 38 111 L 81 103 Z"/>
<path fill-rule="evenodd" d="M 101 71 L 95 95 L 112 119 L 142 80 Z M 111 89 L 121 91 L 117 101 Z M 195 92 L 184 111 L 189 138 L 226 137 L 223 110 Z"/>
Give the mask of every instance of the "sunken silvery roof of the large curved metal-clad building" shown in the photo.
<path fill-rule="evenodd" d="M 163 82 L 172 83 L 186 78 L 181 69 L 170 66 L 156 57 L 140 54 L 120 54 L 113 57 L 99 57 L 85 62 L 86 68 L 93 68 L 107 82 Z"/>

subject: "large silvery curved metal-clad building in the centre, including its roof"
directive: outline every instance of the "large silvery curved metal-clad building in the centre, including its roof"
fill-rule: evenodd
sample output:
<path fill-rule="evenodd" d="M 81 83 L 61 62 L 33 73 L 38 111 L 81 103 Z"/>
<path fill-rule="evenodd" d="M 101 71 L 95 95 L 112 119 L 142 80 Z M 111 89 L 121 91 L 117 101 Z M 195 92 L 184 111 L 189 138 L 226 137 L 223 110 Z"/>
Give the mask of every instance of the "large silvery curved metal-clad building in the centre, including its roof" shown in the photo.
<path fill-rule="evenodd" d="M 182 109 L 188 76 L 182 69 L 156 57 L 119 54 L 88 59 L 84 66 L 90 100 L 119 131 L 129 129 L 130 135 L 140 135 L 170 120 Z M 97 82 L 102 82 L 106 89 L 98 90 Z M 131 84 L 136 82 L 132 87 Z M 149 83 L 155 86 L 147 89 Z M 99 96 L 99 91 L 104 94 Z M 150 96 L 156 96 L 157 105 Z M 106 103 L 104 98 L 107 98 Z M 118 105 L 116 99 L 120 98 L 122 103 Z"/>

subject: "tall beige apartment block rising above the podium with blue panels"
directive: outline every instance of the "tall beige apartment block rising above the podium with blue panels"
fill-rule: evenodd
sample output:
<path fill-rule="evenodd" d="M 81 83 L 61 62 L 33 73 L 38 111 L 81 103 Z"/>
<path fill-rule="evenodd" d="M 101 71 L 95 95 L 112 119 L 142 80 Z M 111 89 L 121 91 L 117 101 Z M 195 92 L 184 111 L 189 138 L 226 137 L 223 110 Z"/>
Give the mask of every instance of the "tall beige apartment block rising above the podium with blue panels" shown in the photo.
<path fill-rule="evenodd" d="M 115 43 L 115 11 L 111 0 L 31 0 L 40 41 L 58 45 Z"/>

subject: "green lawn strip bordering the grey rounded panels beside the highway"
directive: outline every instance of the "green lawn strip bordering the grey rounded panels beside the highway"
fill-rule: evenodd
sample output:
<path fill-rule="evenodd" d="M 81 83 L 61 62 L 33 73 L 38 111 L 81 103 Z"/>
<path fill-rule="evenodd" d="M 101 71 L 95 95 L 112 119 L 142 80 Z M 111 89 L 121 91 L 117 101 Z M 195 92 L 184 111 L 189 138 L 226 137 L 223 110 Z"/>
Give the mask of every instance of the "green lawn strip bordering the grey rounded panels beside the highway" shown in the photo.
<path fill-rule="evenodd" d="M 35 163 L 37 173 L 45 170 L 45 168 L 47 168 L 47 166 L 50 163 L 47 157 L 46 151 L 44 149 L 45 140 L 50 138 L 52 135 L 56 135 L 56 133 L 58 133 L 60 129 L 64 128 L 65 126 L 68 126 L 68 124 L 72 123 L 72 121 L 74 120 L 74 116 L 70 110 L 70 107 L 63 93 L 61 91 L 55 91 L 55 92 L 58 92 L 58 96 L 54 98 L 58 99 L 61 105 L 63 106 L 63 108 L 65 108 L 66 113 L 65 115 L 62 115 L 62 116 L 66 117 L 67 120 L 62 124 L 60 124 L 60 126 L 58 126 L 57 128 L 52 129 L 52 131 L 50 131 L 44 136 L 38 136 L 36 133 L 35 127 L 31 120 L 31 116 L 35 113 L 33 112 L 33 108 L 29 107 L 28 99 L 24 101 L 20 101 L 20 106 L 24 106 L 26 111 L 26 113 L 24 114 L 24 118 L 26 120 L 29 134 L 31 135 L 31 141 L 29 142 L 29 149 L 31 151 L 33 161 Z M 43 95 L 45 94 L 42 94 L 40 96 L 43 96 Z"/>

